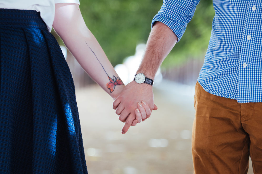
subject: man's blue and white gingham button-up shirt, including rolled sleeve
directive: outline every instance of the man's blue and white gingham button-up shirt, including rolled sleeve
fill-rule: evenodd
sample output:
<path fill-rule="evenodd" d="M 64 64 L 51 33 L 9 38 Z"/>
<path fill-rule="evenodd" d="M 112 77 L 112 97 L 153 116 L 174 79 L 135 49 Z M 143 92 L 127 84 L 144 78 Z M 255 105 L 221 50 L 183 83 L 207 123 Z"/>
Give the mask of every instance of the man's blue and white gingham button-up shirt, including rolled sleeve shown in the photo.
<path fill-rule="evenodd" d="M 262 102 L 261 0 L 213 0 L 215 16 L 198 82 L 205 91 L 240 103 Z M 181 39 L 199 0 L 163 0 L 152 21 Z"/>

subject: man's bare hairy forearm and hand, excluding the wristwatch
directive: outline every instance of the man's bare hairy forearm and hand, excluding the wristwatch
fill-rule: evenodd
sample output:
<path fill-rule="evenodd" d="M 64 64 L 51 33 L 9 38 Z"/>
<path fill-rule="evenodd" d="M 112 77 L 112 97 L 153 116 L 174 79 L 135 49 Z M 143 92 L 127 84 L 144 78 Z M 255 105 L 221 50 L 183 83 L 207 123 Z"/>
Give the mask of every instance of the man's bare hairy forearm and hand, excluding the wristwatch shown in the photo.
<path fill-rule="evenodd" d="M 177 43 L 177 36 L 174 32 L 161 22 L 155 22 L 146 43 L 146 48 L 138 73 L 145 74 L 146 77 L 154 79 L 157 69 L 163 60 Z M 134 120 L 144 121 L 151 115 L 152 110 L 156 110 L 154 105 L 153 87 L 151 85 L 132 81 L 127 84 L 123 91 L 116 97 L 113 103 L 113 109 L 116 109 L 117 115 L 122 122 L 125 122 L 122 128 L 122 134 L 125 134 L 129 127 L 133 125 Z M 134 95 L 135 94 L 135 95 Z M 142 106 L 139 105 L 143 100 Z M 137 104 L 138 103 L 138 104 Z M 136 108 L 140 109 L 140 113 Z M 143 112 L 143 116 L 140 114 Z M 146 115 L 144 114 L 146 113 Z"/>

